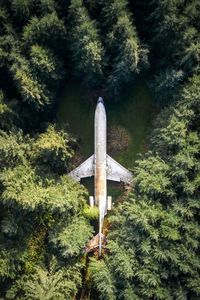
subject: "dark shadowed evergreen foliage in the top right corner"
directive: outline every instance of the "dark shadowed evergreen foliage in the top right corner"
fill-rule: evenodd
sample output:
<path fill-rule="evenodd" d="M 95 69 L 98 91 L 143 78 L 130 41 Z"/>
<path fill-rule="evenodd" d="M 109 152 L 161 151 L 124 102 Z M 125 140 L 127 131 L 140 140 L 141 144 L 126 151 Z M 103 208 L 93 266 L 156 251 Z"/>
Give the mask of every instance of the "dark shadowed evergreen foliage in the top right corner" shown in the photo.
<path fill-rule="evenodd" d="M 196 0 L 150 1 L 149 8 L 150 43 L 157 58 L 156 97 L 166 104 L 173 100 L 176 85 L 184 78 L 199 74 L 199 4 Z"/>

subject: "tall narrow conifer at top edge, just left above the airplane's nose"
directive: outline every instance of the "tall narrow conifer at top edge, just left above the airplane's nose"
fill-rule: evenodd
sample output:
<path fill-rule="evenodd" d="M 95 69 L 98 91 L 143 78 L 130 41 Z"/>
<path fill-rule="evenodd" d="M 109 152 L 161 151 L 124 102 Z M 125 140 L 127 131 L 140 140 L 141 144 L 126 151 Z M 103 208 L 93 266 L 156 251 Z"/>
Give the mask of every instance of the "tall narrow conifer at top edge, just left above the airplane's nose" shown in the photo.
<path fill-rule="evenodd" d="M 73 0 L 69 7 L 69 43 L 77 77 L 95 85 L 102 80 L 103 48 L 94 20 L 82 0 Z"/>

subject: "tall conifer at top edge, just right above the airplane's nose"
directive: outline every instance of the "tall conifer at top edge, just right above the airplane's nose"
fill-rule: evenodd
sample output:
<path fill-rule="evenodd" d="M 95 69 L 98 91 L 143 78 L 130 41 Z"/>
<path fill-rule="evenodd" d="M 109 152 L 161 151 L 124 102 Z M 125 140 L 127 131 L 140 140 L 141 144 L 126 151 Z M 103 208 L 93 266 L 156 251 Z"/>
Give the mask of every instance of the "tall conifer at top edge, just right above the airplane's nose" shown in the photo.
<path fill-rule="evenodd" d="M 147 49 L 140 45 L 126 0 L 103 1 L 103 30 L 109 58 L 108 90 L 118 96 L 123 87 L 147 65 Z"/>

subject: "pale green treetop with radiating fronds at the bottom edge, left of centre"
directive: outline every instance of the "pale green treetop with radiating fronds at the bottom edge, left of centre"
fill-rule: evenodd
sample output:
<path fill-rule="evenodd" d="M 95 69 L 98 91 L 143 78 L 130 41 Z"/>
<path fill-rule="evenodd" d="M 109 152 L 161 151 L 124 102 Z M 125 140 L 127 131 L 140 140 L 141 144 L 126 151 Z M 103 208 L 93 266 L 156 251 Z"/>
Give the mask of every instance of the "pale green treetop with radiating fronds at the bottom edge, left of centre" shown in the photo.
<path fill-rule="evenodd" d="M 59 268 L 53 257 L 49 269 L 36 267 L 30 275 L 18 279 L 7 292 L 7 299 L 73 299 L 81 284 L 80 266 Z"/>

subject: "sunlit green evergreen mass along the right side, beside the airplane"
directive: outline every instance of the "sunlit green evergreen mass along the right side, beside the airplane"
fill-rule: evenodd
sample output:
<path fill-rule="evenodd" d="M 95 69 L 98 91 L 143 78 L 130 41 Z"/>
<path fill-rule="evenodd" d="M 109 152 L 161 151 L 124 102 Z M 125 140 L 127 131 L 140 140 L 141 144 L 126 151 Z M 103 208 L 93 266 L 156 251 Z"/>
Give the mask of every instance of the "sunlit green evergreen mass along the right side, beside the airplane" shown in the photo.
<path fill-rule="evenodd" d="M 134 189 L 109 219 L 105 271 L 115 299 L 199 298 L 199 107 L 195 76 L 157 120 Z"/>

